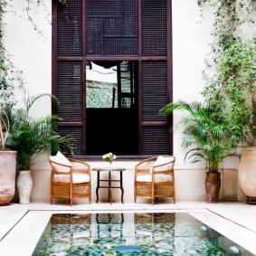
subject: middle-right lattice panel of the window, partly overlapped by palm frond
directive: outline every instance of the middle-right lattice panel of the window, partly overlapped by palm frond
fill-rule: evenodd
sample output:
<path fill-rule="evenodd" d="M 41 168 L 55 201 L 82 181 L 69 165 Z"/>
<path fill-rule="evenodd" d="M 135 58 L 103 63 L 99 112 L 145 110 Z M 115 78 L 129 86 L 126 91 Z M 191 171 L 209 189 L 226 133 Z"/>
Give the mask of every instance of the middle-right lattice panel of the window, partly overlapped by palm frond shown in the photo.
<path fill-rule="evenodd" d="M 142 62 L 142 119 L 143 121 L 163 121 L 159 110 L 168 103 L 167 63 Z"/>

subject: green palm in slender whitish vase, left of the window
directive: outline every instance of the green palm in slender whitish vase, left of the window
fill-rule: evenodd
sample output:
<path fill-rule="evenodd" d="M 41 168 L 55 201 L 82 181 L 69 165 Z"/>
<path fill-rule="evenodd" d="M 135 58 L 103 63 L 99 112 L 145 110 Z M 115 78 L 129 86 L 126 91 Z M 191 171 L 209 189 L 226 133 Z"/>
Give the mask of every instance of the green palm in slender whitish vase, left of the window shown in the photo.
<path fill-rule="evenodd" d="M 33 97 L 24 97 L 24 108 L 8 110 L 7 115 L 10 122 L 9 147 L 16 150 L 17 188 L 21 204 L 29 204 L 30 194 L 33 186 L 31 166 L 35 156 L 56 153 L 61 147 L 71 148 L 71 137 L 61 137 L 56 129 L 56 121 L 60 119 L 54 115 L 47 115 L 35 119 L 30 110 L 33 104 L 43 97 L 50 97 L 53 103 L 58 100 L 48 93 L 42 93 Z"/>

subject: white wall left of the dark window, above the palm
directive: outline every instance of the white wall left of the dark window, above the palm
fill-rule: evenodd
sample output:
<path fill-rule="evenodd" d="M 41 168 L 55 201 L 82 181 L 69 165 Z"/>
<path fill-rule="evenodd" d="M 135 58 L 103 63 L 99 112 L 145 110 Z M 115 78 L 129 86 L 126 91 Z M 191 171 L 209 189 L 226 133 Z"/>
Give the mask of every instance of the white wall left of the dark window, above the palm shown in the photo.
<path fill-rule="evenodd" d="M 23 71 L 25 89 L 29 94 L 52 93 L 52 25 L 47 18 L 52 12 L 52 1 L 44 1 L 48 6 L 45 11 L 43 6 L 31 5 L 33 23 L 38 30 L 34 30 L 33 24 L 28 21 L 24 11 L 25 2 L 11 3 L 14 5 L 12 12 L 5 14 L 5 45 L 13 55 L 16 69 Z M 24 93 L 18 89 L 18 83 L 15 83 L 15 88 L 15 98 L 22 98 Z M 32 109 L 34 116 L 51 113 L 50 100 L 38 103 Z"/>

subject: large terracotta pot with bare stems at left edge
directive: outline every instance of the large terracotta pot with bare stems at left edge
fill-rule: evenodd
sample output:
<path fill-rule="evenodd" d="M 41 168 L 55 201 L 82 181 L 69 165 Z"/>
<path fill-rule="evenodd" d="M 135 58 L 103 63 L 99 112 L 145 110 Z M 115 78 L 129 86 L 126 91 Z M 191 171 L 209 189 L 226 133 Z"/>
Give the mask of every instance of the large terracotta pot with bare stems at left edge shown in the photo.
<path fill-rule="evenodd" d="M 0 107 L 0 205 L 11 202 L 15 191 L 16 151 L 6 150 L 10 123 L 5 107 Z"/>

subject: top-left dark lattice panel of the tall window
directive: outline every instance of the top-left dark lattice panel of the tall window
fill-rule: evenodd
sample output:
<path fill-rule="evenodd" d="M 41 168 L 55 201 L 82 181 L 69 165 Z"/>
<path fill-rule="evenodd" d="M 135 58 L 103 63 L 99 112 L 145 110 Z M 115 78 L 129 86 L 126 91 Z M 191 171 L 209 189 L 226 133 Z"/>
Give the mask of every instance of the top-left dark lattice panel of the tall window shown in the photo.
<path fill-rule="evenodd" d="M 57 55 L 81 56 L 82 0 L 68 0 L 67 5 L 58 4 Z"/>

